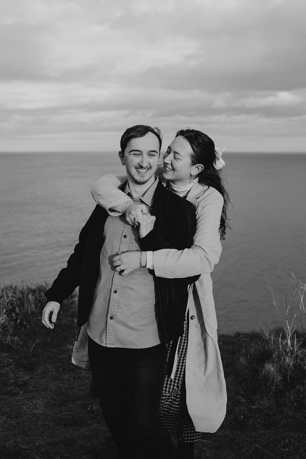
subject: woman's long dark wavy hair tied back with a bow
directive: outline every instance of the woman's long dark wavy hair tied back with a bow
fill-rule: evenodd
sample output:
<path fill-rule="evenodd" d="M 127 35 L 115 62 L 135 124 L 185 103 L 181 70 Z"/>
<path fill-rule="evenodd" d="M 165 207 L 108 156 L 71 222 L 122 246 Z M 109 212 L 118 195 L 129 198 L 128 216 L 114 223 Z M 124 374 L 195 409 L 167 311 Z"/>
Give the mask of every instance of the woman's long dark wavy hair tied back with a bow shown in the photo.
<path fill-rule="evenodd" d="M 192 148 L 190 155 L 191 165 L 203 164 L 204 169 L 197 175 L 200 185 L 212 186 L 223 196 L 223 209 L 221 213 L 219 232 L 221 239 L 225 239 L 228 224 L 228 204 L 230 203 L 228 191 L 224 186 L 220 170 L 214 167 L 216 162 L 215 144 L 208 135 L 195 129 L 181 129 L 175 137 L 184 137 Z"/>

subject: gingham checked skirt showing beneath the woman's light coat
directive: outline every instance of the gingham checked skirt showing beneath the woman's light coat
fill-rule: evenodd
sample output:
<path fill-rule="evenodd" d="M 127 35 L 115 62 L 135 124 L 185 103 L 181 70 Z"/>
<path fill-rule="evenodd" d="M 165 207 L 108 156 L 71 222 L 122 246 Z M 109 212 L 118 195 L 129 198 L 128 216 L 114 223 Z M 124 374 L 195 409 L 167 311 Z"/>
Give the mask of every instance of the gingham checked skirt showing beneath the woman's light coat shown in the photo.
<path fill-rule="evenodd" d="M 187 314 L 188 315 L 188 314 Z M 188 317 L 184 323 L 184 335 L 178 340 L 178 361 L 173 379 L 166 375 L 161 396 L 161 420 L 168 431 L 185 443 L 198 442 L 202 438 L 201 432 L 195 431 L 195 426 L 189 416 L 186 405 L 185 388 L 185 363 L 188 342 Z M 174 343 L 175 345 L 176 343 Z M 172 342 L 168 348 L 167 362 L 169 355 L 175 352 L 172 349 Z M 172 361 L 172 359 L 170 358 Z M 172 369 L 167 369 L 169 374 Z"/>

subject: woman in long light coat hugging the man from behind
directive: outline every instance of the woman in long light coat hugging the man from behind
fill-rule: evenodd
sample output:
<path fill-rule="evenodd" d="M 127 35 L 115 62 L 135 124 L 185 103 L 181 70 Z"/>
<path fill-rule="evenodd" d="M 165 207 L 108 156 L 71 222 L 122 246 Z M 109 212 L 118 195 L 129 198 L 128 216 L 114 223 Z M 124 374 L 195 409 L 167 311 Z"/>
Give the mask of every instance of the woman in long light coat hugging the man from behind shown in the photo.
<path fill-rule="evenodd" d="M 178 438 L 178 457 L 192 458 L 194 443 L 200 440 L 201 432 L 215 432 L 226 411 L 210 273 L 221 254 L 220 237 L 225 238 L 228 227 L 229 198 L 219 170 L 224 162 L 206 134 L 194 129 L 178 131 L 163 162 L 163 183 L 192 202 L 197 215 L 193 246 L 184 250 L 159 250 L 153 252 L 153 257 L 148 253 L 150 266 L 147 266 L 153 267 L 158 277 L 201 274 L 189 287 L 184 335 L 168 348 L 161 399 L 161 419 Z M 146 219 L 139 213 L 139 209 L 143 211 L 141 205 L 128 202 L 127 196 L 117 189 L 124 179 L 108 174 L 95 183 L 91 193 L 110 214 L 122 207 L 127 219 L 141 225 Z M 139 256 L 137 252 L 123 253 L 113 258 L 113 265 L 126 275 L 139 268 Z"/>

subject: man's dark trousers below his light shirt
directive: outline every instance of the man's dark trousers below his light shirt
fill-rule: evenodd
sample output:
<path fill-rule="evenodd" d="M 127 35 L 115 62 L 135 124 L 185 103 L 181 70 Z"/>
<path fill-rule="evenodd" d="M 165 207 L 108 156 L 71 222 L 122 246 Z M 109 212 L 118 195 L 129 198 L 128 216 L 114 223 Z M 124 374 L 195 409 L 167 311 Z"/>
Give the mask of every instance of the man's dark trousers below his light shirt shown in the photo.
<path fill-rule="evenodd" d="M 89 363 L 106 425 L 120 459 L 170 459 L 172 440 L 159 408 L 166 345 L 104 347 L 89 337 Z"/>

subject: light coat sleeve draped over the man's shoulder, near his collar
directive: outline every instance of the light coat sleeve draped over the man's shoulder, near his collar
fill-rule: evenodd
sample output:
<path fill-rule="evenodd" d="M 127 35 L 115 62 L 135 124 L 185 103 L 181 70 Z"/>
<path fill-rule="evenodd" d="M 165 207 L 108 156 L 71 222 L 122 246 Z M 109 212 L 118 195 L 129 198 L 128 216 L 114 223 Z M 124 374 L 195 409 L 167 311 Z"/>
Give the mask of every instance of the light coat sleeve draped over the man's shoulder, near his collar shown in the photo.
<path fill-rule="evenodd" d="M 132 201 L 123 191 L 118 189 L 127 179 L 128 177 L 126 175 L 116 177 L 112 174 L 106 174 L 101 179 L 97 180 L 90 190 L 95 202 L 113 217 L 121 215 L 121 213 L 118 212 L 118 206 L 120 204 Z"/>

